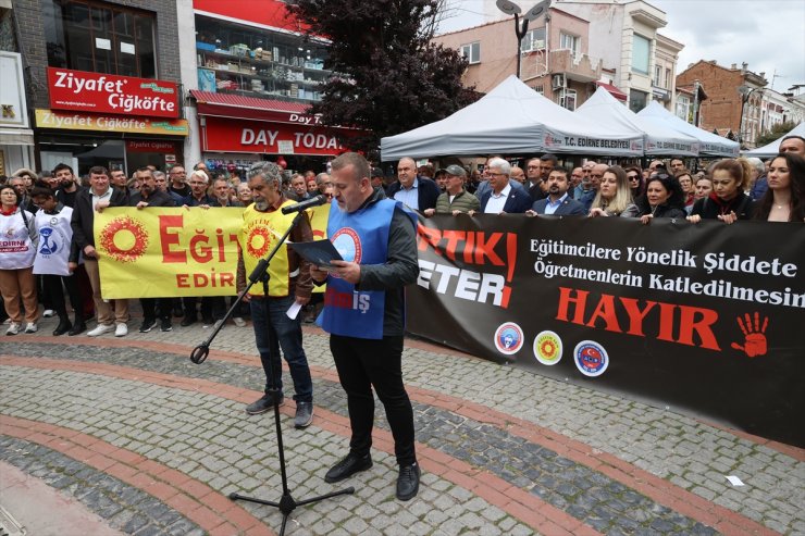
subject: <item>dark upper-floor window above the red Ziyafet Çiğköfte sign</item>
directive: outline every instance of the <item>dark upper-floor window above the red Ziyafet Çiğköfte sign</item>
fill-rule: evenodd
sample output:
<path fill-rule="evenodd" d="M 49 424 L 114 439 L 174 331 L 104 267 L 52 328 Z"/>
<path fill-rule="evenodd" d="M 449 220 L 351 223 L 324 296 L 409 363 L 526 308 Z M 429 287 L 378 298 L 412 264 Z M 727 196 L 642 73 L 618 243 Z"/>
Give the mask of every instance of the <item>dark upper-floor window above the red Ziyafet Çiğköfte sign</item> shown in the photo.
<path fill-rule="evenodd" d="M 79 0 L 42 0 L 48 64 L 157 77 L 153 16 Z"/>

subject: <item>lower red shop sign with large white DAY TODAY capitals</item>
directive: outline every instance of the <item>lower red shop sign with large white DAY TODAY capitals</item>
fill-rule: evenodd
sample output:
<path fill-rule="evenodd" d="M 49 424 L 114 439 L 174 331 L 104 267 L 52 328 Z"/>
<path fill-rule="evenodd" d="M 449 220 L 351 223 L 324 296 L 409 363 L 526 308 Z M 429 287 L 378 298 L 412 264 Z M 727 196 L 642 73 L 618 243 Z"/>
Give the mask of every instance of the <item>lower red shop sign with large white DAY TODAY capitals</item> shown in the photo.
<path fill-rule="evenodd" d="M 230 121 L 208 116 L 207 126 L 203 129 L 203 150 L 336 155 L 343 152 L 343 147 L 336 136 L 337 130 L 259 121 Z"/>

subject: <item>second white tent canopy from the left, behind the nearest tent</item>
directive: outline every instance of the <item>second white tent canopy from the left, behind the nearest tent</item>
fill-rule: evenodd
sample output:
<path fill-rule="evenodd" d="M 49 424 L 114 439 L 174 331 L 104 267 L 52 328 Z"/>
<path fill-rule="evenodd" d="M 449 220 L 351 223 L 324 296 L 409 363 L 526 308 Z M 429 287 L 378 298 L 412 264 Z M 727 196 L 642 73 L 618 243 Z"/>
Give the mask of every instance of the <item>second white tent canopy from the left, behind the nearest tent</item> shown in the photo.
<path fill-rule="evenodd" d="M 698 157 L 696 138 L 639 116 L 603 87 L 579 107 L 575 113 L 599 125 L 622 125 L 624 128 L 644 133 L 643 146 L 646 154 Z"/>

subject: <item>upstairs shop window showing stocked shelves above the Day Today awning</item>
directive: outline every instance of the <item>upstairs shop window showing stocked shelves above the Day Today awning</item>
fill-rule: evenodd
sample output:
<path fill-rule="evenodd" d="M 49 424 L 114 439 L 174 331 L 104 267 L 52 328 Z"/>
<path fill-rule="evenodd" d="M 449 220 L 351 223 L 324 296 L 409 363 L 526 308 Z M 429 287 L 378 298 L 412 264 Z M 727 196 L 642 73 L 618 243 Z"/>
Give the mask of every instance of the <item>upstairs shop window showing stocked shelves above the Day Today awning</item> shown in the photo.
<path fill-rule="evenodd" d="M 199 89 L 299 101 L 321 100 L 325 41 L 196 17 Z"/>

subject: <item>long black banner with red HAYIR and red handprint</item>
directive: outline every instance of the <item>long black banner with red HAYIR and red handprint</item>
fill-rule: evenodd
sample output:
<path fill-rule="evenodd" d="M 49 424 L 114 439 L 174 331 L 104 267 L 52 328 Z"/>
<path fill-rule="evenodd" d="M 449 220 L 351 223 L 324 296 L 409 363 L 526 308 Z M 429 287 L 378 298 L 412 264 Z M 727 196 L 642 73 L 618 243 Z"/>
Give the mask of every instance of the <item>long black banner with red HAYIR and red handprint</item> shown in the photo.
<path fill-rule="evenodd" d="M 413 334 L 805 447 L 805 225 L 435 216 L 419 263 Z"/>

